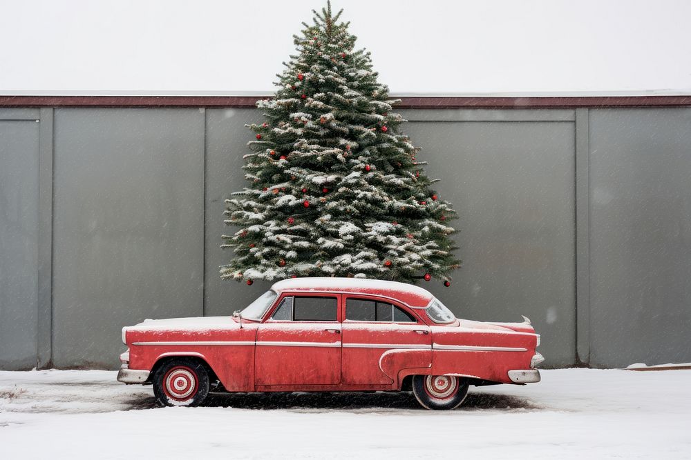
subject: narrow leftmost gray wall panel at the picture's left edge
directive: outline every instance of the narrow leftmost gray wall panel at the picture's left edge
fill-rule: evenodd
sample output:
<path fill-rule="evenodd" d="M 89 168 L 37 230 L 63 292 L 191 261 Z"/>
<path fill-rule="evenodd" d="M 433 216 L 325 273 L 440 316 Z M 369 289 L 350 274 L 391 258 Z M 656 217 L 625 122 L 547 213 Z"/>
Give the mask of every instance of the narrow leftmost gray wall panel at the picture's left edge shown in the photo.
<path fill-rule="evenodd" d="M 36 364 L 38 117 L 38 110 L 0 110 L 0 368 L 4 369 Z"/>

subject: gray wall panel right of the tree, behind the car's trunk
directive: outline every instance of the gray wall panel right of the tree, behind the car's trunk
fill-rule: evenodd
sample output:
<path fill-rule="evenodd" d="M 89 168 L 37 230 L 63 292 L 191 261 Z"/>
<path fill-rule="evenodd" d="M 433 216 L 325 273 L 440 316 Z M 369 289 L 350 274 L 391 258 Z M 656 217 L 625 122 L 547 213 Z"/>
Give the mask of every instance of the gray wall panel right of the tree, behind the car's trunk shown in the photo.
<path fill-rule="evenodd" d="M 419 110 L 406 117 L 410 138 L 424 147 L 417 158 L 430 162 L 430 177 L 443 179 L 441 197 L 460 214 L 455 239 L 462 269 L 452 288 L 425 287 L 460 317 L 521 321 L 526 315 L 542 335 L 549 363 L 573 364 L 573 112 Z"/>

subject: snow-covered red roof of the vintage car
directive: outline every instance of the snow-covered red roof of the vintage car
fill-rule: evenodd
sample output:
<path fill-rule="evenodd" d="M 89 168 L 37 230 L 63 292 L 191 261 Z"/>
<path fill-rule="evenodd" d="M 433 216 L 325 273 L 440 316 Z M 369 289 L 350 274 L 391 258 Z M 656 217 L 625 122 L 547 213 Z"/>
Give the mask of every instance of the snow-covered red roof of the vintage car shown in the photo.
<path fill-rule="evenodd" d="M 279 294 L 283 291 L 377 294 L 407 303 L 411 307 L 425 307 L 434 297 L 428 290 L 412 284 L 363 278 L 291 278 L 274 283 L 272 289 Z"/>

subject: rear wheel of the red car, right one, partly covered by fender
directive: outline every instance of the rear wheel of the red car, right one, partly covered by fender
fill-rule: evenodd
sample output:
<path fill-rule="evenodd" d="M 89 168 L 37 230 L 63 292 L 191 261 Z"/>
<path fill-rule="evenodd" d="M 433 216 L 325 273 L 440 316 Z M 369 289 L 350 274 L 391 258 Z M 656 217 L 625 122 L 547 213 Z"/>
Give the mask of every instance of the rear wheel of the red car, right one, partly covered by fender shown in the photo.
<path fill-rule="evenodd" d="M 424 408 L 455 409 L 466 399 L 468 380 L 454 375 L 416 375 L 413 377 L 413 394 Z"/>

